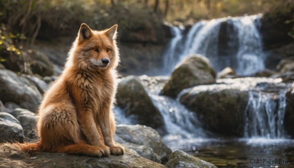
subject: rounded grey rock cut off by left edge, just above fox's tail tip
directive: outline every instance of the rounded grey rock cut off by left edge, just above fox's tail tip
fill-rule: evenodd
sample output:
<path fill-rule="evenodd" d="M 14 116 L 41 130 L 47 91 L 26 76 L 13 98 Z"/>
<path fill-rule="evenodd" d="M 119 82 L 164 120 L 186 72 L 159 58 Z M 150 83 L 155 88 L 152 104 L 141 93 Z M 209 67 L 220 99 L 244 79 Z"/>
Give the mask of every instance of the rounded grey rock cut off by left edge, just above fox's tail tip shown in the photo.
<path fill-rule="evenodd" d="M 0 143 L 19 141 L 24 139 L 21 123 L 11 114 L 0 112 Z"/>

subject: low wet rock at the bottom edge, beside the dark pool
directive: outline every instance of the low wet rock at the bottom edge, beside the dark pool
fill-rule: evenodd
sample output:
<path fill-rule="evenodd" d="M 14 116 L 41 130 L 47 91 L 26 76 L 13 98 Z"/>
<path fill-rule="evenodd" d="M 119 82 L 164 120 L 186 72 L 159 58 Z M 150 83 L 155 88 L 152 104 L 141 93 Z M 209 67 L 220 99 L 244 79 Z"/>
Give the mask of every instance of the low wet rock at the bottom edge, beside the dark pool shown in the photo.
<path fill-rule="evenodd" d="M 168 168 L 218 168 L 213 164 L 189 155 L 186 152 L 175 150 L 166 164 Z"/>

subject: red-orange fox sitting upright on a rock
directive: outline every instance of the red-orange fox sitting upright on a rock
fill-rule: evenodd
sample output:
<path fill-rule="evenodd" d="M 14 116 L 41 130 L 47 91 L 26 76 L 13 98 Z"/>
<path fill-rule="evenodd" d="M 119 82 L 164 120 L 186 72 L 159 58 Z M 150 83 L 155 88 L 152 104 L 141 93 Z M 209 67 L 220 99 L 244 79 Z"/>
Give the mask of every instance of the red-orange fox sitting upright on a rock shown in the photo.
<path fill-rule="evenodd" d="M 64 152 L 86 156 L 122 155 L 113 140 L 117 25 L 96 31 L 81 24 L 65 69 L 39 107 L 37 143 L 16 144 L 26 152 Z"/>

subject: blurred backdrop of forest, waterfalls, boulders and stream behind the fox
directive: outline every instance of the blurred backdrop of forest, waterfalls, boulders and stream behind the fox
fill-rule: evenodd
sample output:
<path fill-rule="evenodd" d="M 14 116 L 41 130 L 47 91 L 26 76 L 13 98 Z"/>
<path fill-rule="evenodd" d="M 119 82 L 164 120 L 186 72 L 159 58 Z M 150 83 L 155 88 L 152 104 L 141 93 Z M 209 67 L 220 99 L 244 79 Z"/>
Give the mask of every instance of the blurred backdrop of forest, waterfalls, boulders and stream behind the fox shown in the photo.
<path fill-rule="evenodd" d="M 294 167 L 293 0 L 1 0 L 2 110 L 36 112 L 82 23 L 118 24 L 118 123 L 220 168 Z"/>

